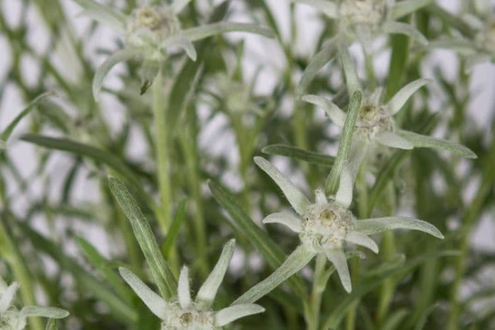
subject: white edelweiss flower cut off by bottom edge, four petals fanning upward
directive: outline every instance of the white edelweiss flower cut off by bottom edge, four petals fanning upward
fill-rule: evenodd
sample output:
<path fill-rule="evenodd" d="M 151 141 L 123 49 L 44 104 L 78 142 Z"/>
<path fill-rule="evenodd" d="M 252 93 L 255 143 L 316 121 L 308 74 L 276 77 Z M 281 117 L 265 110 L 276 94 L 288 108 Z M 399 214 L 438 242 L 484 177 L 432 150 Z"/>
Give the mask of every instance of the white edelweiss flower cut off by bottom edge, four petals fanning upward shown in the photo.
<path fill-rule="evenodd" d="M 120 275 L 131 286 L 134 292 L 143 300 L 144 304 L 163 320 L 162 330 L 214 330 L 221 329 L 236 319 L 252 314 L 264 312 L 260 305 L 244 304 L 226 307 L 214 312 L 211 305 L 223 276 L 227 271 L 234 251 L 235 240 L 230 240 L 210 273 L 199 289 L 196 299 L 192 301 L 189 288 L 189 269 L 182 267 L 179 276 L 177 299 L 165 301 L 154 293 L 129 269 L 120 268 Z"/>

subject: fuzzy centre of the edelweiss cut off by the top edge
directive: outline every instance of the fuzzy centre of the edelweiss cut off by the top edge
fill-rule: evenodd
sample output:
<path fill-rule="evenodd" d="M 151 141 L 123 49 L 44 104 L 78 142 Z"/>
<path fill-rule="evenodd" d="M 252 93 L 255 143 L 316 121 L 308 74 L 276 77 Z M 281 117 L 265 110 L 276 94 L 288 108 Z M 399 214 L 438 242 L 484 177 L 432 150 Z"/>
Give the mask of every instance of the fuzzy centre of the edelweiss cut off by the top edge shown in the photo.
<path fill-rule="evenodd" d="M 347 25 L 376 25 L 383 20 L 384 13 L 381 0 L 344 0 L 340 5 L 340 15 Z"/>

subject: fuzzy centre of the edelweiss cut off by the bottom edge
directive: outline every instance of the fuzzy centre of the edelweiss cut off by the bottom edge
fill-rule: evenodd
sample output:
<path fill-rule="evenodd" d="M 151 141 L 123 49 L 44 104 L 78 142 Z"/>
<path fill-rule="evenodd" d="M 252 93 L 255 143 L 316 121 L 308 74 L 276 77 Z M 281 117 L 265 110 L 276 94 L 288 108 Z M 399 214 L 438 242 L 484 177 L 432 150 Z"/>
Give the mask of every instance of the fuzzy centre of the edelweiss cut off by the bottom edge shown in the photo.
<path fill-rule="evenodd" d="M 170 308 L 161 330 L 214 330 L 214 312 L 192 306 L 182 310 L 178 304 Z"/>

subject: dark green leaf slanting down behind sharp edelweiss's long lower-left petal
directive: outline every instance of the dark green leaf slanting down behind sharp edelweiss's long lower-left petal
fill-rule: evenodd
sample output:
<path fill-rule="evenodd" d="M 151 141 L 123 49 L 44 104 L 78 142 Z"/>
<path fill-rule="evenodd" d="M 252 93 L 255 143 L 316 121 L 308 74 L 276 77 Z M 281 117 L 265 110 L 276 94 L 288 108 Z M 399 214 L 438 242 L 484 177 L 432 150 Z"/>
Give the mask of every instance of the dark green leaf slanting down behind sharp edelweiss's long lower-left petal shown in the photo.
<path fill-rule="evenodd" d="M 279 245 L 275 244 L 270 237 L 264 232 L 256 223 L 245 213 L 243 208 L 235 203 L 235 198 L 231 196 L 225 189 L 210 181 L 208 183 L 211 194 L 214 199 L 226 209 L 228 214 L 231 215 L 233 221 L 239 228 L 239 232 L 243 237 L 247 237 L 250 242 L 260 251 L 263 259 L 267 261 L 272 269 L 277 269 L 286 259 L 286 255 L 280 249 Z M 305 285 L 300 278 L 289 279 L 289 284 L 292 286 L 296 293 L 301 297 L 306 295 Z"/>

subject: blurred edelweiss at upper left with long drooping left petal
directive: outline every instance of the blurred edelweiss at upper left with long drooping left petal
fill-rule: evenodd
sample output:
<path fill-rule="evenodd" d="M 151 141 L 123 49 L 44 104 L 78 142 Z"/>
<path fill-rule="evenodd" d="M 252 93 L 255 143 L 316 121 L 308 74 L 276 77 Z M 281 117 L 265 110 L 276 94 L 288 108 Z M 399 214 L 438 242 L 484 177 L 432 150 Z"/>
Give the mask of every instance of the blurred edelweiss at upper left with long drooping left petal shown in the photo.
<path fill-rule="evenodd" d="M 103 78 L 115 64 L 138 57 L 144 61 L 145 84 L 149 84 L 156 74 L 170 47 L 180 47 L 193 61 L 197 54 L 192 42 L 228 32 L 257 33 L 273 37 L 271 30 L 249 23 L 219 22 L 182 29 L 177 15 L 190 0 L 175 0 L 172 4 L 144 6 L 136 8 L 129 16 L 114 8 L 103 6 L 93 0 L 75 0 L 84 8 L 83 15 L 109 25 L 117 33 L 124 35 L 126 47 L 113 53 L 96 71 L 93 80 L 93 95 L 98 99 Z M 165 1 L 163 1 L 165 2 Z"/>

